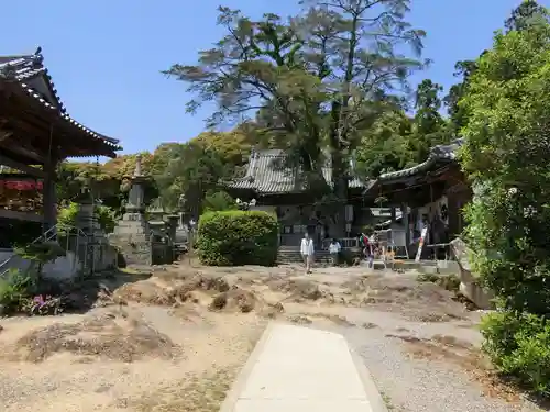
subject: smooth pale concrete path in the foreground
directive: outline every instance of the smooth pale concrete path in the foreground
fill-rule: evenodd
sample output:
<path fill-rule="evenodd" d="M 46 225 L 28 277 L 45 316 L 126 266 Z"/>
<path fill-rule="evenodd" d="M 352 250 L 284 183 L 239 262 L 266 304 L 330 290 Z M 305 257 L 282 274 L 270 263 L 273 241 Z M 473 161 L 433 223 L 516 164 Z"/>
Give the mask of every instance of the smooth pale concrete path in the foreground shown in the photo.
<path fill-rule="evenodd" d="M 271 324 L 221 412 L 386 412 L 361 359 L 342 335 Z"/>

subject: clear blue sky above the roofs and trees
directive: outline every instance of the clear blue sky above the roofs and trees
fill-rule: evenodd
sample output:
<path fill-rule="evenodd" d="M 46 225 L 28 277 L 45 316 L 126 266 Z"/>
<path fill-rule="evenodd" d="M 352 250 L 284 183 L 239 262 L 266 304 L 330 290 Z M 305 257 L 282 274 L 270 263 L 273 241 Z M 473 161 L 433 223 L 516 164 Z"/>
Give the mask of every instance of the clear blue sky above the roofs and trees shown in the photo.
<path fill-rule="evenodd" d="M 193 64 L 197 52 L 222 35 L 216 25 L 222 0 L 6 1 L 0 55 L 43 47 L 58 93 L 70 115 L 120 138 L 124 153 L 185 142 L 205 130 L 207 113 L 186 114 L 185 85 L 160 73 Z M 295 13 L 297 0 L 227 0 L 251 16 Z M 431 78 L 455 82 L 454 63 L 491 46 L 493 32 L 520 0 L 414 0 L 409 21 L 428 33 L 424 56 Z M 549 7 L 550 0 L 540 1 Z"/>

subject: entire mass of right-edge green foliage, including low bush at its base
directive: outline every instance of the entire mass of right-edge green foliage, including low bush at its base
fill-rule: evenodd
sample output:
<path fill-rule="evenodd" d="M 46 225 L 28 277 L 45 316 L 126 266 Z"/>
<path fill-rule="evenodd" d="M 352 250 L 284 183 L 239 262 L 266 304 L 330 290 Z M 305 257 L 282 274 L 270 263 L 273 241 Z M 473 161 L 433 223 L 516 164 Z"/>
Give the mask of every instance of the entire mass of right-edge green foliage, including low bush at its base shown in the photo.
<path fill-rule="evenodd" d="M 550 24 L 531 24 L 528 3 L 472 65 L 459 101 L 468 114 L 461 162 L 474 189 L 464 240 L 501 309 L 482 324 L 484 350 L 501 372 L 548 394 Z"/>

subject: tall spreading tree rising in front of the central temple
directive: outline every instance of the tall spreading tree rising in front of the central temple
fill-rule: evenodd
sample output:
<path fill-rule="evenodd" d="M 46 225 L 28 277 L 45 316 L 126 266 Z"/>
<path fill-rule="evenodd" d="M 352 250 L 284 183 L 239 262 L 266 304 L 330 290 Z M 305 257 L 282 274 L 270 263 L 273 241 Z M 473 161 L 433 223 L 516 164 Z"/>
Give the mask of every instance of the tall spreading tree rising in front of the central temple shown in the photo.
<path fill-rule="evenodd" d="M 220 8 L 218 23 L 227 35 L 200 52 L 197 65 L 174 65 L 165 73 L 196 93 L 189 111 L 205 101 L 218 103 L 208 119 L 211 126 L 258 110 L 268 113 L 264 132 L 285 136 L 290 158 L 312 186 L 323 186 L 322 146 L 328 145 L 333 192 L 343 200 L 346 156 L 360 141 L 358 132 L 391 105 L 388 94 L 407 88 L 410 71 L 422 67 L 398 52 L 409 44 L 418 56 L 422 48 L 425 33 L 405 21 L 409 2 L 310 0 L 289 21 L 265 14 L 257 22 Z"/>

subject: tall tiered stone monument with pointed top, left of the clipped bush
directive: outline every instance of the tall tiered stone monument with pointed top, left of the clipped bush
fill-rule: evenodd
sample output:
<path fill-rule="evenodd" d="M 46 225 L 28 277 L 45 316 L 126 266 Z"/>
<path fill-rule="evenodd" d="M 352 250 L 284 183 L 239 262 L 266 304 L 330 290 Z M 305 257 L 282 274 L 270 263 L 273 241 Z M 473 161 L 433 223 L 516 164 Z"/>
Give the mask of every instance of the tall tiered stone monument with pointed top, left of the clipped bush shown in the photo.
<path fill-rule="evenodd" d="M 144 203 L 148 178 L 142 174 L 140 155 L 135 159 L 135 171 L 129 179 L 131 187 L 124 214 L 109 236 L 109 241 L 119 248 L 127 265 L 151 265 L 151 238 Z"/>

